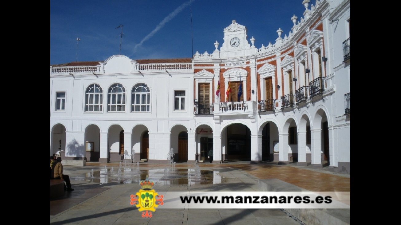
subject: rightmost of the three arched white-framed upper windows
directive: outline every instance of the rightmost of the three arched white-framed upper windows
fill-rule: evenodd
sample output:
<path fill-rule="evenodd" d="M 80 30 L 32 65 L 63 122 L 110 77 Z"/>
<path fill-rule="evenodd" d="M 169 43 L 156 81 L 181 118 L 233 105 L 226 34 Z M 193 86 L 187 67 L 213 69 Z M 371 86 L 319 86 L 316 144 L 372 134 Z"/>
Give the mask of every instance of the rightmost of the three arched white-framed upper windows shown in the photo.
<path fill-rule="evenodd" d="M 150 111 L 150 90 L 146 84 L 138 83 L 132 88 L 131 111 Z"/>

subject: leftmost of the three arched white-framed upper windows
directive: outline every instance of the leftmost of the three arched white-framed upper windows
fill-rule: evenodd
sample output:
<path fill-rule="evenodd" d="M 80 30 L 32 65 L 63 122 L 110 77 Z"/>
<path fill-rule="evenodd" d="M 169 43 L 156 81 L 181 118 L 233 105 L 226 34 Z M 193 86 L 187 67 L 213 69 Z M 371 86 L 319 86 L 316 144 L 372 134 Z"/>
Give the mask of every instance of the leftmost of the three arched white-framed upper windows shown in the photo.
<path fill-rule="evenodd" d="M 98 112 L 103 110 L 103 90 L 97 84 L 91 84 L 86 89 L 85 112 Z"/>

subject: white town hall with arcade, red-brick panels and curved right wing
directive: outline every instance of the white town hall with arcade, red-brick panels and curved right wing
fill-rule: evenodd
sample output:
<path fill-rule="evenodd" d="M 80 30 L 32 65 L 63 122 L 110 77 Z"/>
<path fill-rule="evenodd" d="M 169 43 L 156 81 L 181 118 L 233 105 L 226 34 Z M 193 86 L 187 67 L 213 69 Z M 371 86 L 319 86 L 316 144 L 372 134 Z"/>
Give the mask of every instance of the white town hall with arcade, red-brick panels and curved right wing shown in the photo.
<path fill-rule="evenodd" d="M 213 149 L 213 163 L 350 174 L 350 0 L 308 3 L 289 35 L 260 48 L 232 20 L 213 53 L 193 58 L 51 65 L 50 153 L 168 163 L 172 149 L 194 163 Z"/>

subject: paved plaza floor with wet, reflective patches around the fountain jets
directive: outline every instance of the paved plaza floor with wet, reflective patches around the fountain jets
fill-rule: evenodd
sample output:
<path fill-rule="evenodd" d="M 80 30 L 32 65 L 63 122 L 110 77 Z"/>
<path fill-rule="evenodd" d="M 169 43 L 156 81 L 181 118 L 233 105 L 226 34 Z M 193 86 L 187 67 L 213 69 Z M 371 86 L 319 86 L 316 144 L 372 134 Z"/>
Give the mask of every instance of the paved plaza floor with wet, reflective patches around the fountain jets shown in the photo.
<path fill-rule="evenodd" d="M 259 191 L 258 181 L 279 179 L 308 191 L 350 192 L 350 175 L 325 168 L 250 164 L 97 163 L 64 166 L 75 191 L 51 201 L 51 224 L 308 224 L 281 209 L 163 209 L 151 218 L 130 205 L 130 195 L 141 189 L 146 176 L 159 194 L 169 191 Z"/>

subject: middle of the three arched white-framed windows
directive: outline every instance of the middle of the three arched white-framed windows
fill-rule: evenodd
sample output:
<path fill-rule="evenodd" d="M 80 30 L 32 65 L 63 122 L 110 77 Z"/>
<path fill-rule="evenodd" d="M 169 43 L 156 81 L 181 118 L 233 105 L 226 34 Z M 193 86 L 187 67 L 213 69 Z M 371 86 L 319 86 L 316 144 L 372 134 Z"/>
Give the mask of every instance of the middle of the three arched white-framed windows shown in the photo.
<path fill-rule="evenodd" d="M 125 111 L 125 88 L 117 83 L 111 85 L 107 94 L 107 111 Z"/>

